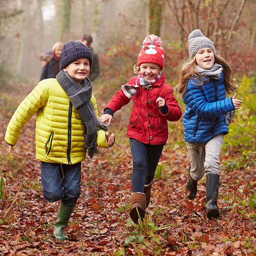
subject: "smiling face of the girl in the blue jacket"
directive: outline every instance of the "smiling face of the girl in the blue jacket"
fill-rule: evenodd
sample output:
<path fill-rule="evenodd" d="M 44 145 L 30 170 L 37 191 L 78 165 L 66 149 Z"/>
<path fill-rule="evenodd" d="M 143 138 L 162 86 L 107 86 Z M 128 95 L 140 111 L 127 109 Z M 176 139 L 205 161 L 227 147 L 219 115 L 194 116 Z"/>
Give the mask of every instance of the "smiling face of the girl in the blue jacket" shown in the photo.
<path fill-rule="evenodd" d="M 195 60 L 198 66 L 204 69 L 210 69 L 215 61 L 214 53 L 209 47 L 202 48 L 195 54 Z"/>

